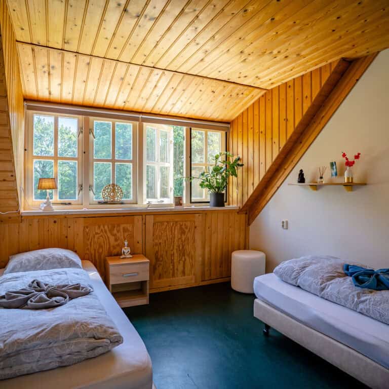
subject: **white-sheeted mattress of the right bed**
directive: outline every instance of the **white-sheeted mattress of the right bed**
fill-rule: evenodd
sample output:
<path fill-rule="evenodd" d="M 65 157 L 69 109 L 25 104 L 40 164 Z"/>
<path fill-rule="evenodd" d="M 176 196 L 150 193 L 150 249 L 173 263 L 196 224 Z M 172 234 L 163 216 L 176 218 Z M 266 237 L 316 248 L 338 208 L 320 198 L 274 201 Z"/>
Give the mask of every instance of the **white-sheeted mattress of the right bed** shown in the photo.
<path fill-rule="evenodd" d="M 389 369 L 389 326 L 281 281 L 254 280 L 257 298 L 296 321 L 335 339 Z"/>

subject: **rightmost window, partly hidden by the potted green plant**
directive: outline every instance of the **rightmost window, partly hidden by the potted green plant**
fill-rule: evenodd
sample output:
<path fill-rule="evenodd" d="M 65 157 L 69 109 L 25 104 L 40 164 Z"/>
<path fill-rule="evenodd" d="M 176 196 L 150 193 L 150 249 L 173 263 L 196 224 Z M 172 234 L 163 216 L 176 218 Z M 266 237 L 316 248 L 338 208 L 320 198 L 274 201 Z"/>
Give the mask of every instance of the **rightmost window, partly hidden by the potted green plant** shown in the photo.
<path fill-rule="evenodd" d="M 226 150 L 226 132 L 190 129 L 190 175 L 199 177 L 200 173 L 215 165 L 214 157 Z M 190 182 L 190 203 L 209 203 L 209 192 L 199 185 L 200 180 Z"/>

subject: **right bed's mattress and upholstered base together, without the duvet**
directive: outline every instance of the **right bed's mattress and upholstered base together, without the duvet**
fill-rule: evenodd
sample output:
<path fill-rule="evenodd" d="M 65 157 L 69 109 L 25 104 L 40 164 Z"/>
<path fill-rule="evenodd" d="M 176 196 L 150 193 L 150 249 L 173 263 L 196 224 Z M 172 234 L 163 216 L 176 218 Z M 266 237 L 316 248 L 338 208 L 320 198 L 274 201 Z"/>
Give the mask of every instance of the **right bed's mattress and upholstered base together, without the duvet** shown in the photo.
<path fill-rule="evenodd" d="M 254 316 L 368 386 L 389 388 L 389 326 L 280 280 L 254 280 Z"/>

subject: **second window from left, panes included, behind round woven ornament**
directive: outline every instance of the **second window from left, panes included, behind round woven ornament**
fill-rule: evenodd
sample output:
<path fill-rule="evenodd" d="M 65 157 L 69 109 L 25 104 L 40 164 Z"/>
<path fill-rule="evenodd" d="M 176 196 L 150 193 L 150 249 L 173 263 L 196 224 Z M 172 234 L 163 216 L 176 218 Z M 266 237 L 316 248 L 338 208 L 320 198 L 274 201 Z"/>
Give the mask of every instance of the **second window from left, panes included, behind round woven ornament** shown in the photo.
<path fill-rule="evenodd" d="M 89 125 L 90 204 L 102 202 L 102 190 L 111 183 L 122 188 L 124 203 L 136 203 L 136 123 L 90 118 Z"/>

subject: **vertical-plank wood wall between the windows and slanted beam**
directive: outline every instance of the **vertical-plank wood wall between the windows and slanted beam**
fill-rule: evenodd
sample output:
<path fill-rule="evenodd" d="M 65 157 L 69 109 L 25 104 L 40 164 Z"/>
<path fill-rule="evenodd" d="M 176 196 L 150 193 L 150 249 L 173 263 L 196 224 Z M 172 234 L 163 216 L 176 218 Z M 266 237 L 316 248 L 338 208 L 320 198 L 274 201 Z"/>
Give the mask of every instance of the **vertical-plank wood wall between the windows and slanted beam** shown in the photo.
<path fill-rule="evenodd" d="M 230 204 L 246 202 L 337 63 L 270 89 L 230 123 L 230 149 L 245 165 L 229 185 Z"/>

